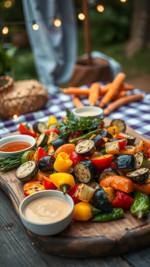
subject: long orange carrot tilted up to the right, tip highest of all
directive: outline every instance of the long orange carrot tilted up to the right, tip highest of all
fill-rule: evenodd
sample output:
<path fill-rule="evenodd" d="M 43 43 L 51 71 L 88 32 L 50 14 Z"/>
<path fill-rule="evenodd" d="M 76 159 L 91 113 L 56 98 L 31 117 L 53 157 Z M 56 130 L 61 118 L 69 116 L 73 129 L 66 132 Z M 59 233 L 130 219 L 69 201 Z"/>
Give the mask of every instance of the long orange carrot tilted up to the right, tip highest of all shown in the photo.
<path fill-rule="evenodd" d="M 125 73 L 120 72 L 117 74 L 115 79 L 112 82 L 112 86 L 109 88 L 109 90 L 106 92 L 106 94 L 102 97 L 99 107 L 103 108 L 115 95 L 116 91 L 119 91 L 121 84 L 123 83 L 125 79 Z"/>

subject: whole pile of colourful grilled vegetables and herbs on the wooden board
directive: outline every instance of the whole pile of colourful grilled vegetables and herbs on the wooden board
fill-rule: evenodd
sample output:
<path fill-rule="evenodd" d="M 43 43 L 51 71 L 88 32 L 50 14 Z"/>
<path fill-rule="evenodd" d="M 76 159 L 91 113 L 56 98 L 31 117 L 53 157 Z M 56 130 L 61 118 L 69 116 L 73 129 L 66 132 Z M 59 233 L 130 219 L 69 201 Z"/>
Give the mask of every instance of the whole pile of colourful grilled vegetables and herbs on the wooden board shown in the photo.
<path fill-rule="evenodd" d="M 35 123 L 34 132 L 26 132 L 35 134 L 36 151 L 19 155 L 12 165 L 0 159 L 0 171 L 22 162 L 15 175 L 26 182 L 25 196 L 47 189 L 68 193 L 74 220 L 111 221 L 123 218 L 126 209 L 141 219 L 149 212 L 150 143 L 134 146 L 136 138 L 125 133 L 124 121 L 112 120 L 107 128 L 102 121 L 78 120 L 67 110 L 59 123 L 53 116 L 47 125 Z"/>

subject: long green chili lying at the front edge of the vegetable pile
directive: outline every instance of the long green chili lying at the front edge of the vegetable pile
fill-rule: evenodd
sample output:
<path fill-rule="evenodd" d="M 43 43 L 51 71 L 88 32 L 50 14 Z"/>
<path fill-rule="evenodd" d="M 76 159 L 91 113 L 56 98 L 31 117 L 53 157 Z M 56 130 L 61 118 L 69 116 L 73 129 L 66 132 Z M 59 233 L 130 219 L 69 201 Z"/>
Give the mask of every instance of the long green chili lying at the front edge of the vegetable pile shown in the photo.
<path fill-rule="evenodd" d="M 98 213 L 92 219 L 91 222 L 109 222 L 124 217 L 124 211 L 121 208 L 113 208 L 112 211 L 107 213 Z"/>

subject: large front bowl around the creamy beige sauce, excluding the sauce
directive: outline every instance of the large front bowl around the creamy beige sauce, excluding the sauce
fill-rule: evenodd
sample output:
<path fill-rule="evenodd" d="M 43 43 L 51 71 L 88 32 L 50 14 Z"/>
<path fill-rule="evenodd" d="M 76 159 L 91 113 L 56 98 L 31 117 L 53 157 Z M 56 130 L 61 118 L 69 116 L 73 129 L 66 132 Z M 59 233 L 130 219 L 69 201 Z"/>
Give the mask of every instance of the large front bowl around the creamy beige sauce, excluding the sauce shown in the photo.
<path fill-rule="evenodd" d="M 70 213 L 64 219 L 56 222 L 42 224 L 28 221 L 28 219 L 23 215 L 25 206 L 31 201 L 41 197 L 58 197 L 64 199 L 70 205 Z M 31 232 L 39 235 L 54 235 L 58 234 L 69 225 L 73 216 L 73 208 L 73 199 L 68 194 L 64 195 L 63 192 L 57 190 L 43 190 L 26 197 L 19 206 L 19 214 L 23 225 Z"/>

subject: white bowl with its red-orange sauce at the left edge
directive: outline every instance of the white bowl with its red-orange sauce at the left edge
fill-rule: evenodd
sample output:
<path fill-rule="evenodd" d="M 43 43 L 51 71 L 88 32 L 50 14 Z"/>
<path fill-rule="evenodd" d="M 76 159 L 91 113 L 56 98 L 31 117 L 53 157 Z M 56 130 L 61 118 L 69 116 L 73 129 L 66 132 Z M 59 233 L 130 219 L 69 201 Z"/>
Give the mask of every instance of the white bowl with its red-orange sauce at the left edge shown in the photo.
<path fill-rule="evenodd" d="M 0 139 L 0 157 L 19 155 L 35 147 L 35 138 L 29 135 L 10 135 Z"/>

